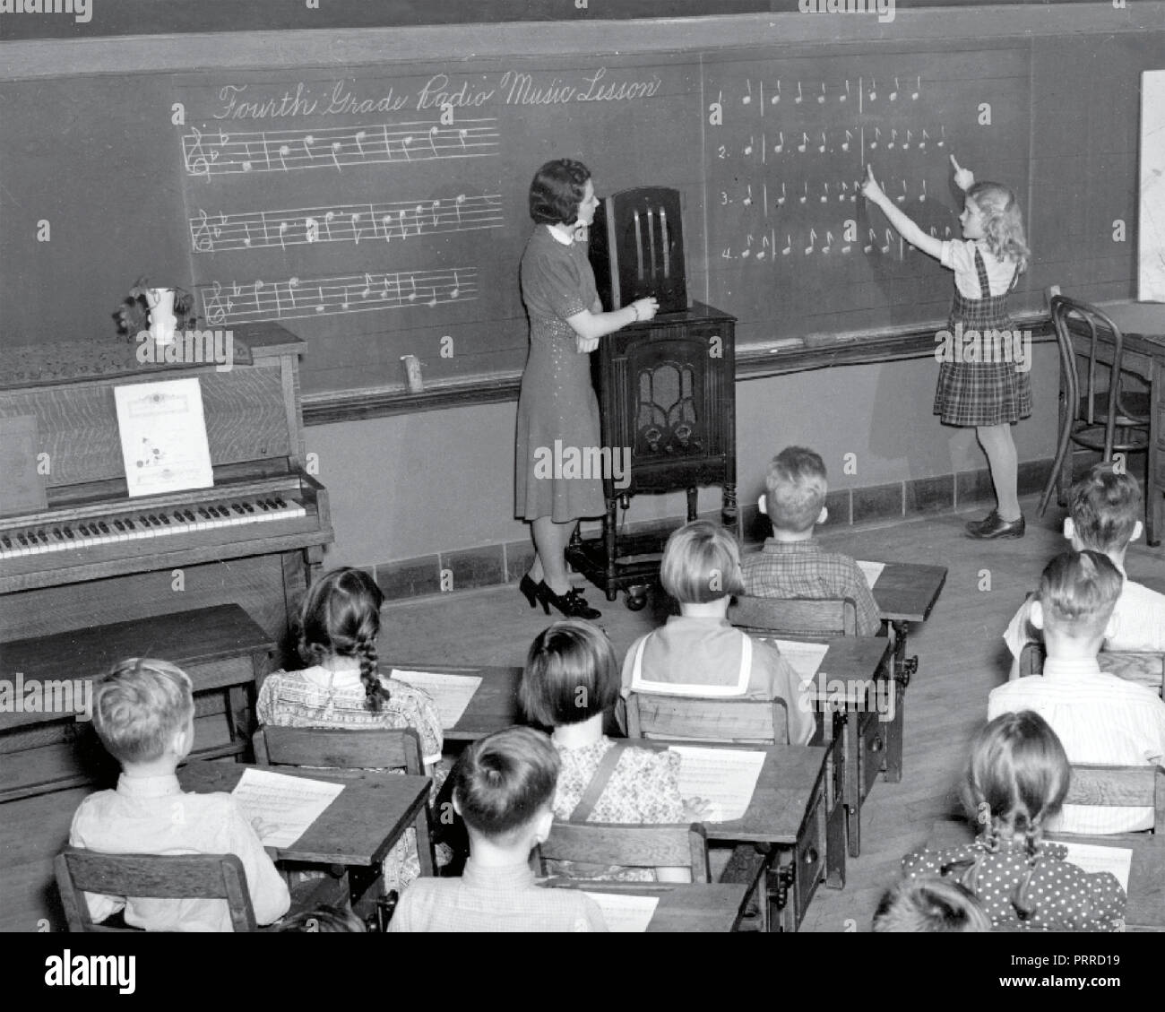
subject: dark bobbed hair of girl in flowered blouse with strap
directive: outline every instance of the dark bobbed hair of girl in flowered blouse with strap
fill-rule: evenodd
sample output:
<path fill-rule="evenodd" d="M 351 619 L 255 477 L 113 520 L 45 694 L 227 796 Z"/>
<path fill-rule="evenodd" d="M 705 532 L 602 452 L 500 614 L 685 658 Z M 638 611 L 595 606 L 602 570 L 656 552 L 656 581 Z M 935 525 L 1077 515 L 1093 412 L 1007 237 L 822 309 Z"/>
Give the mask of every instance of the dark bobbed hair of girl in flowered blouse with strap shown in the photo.
<path fill-rule="evenodd" d="M 565 619 L 530 645 L 518 698 L 525 715 L 544 728 L 579 724 L 615 705 L 619 681 L 619 659 L 602 630 Z"/>

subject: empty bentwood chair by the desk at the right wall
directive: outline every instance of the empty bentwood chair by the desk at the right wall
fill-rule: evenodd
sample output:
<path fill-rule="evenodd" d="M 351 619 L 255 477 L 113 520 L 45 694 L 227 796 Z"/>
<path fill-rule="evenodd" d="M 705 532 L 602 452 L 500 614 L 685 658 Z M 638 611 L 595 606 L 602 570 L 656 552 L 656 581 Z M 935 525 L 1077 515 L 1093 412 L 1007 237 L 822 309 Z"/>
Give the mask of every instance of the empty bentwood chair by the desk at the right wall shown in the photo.
<path fill-rule="evenodd" d="M 1145 454 L 1149 451 L 1150 401 L 1146 393 L 1121 391 L 1121 358 L 1124 336 L 1121 329 L 1095 305 L 1053 295 L 1050 301 L 1055 339 L 1060 349 L 1060 437 L 1052 472 L 1039 499 L 1043 516 L 1058 491 L 1064 506 L 1072 485 L 1071 444 L 1103 454 Z M 1087 371 L 1083 377 L 1076 361 L 1073 336 L 1087 338 Z M 1150 468 L 1152 464 L 1150 463 Z M 1150 483 L 1151 487 L 1151 483 Z"/>

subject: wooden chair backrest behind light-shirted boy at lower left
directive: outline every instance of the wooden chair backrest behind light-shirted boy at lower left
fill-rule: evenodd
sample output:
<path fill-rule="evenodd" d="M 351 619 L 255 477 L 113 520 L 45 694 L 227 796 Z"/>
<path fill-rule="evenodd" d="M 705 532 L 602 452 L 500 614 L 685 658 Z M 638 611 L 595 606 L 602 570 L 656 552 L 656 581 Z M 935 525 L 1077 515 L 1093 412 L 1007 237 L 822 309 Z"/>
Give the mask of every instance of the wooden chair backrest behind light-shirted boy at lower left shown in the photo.
<path fill-rule="evenodd" d="M 242 862 L 233 853 L 96 853 L 66 846 L 56 859 L 70 932 L 133 932 L 93 923 L 85 893 L 135 899 L 226 900 L 236 932 L 254 932 L 255 911 Z"/>

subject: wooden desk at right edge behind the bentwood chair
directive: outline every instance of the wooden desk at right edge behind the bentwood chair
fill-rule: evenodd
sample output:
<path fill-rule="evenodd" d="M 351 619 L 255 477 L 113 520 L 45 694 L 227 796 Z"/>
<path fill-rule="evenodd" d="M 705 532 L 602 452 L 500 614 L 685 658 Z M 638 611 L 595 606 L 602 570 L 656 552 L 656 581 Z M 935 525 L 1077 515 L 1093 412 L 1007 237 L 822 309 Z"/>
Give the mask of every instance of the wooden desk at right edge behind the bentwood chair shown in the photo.
<path fill-rule="evenodd" d="M 1121 371 L 1139 377 L 1149 386 L 1149 461 L 1145 482 L 1145 541 L 1160 544 L 1165 532 L 1165 303 L 1102 302 L 1107 314 L 1124 336 Z M 1097 357 L 1106 361 L 1104 331 L 1097 332 Z M 1088 338 L 1073 333 L 1078 354 L 1088 354 Z M 1111 361 L 1111 358 L 1108 359 Z"/>

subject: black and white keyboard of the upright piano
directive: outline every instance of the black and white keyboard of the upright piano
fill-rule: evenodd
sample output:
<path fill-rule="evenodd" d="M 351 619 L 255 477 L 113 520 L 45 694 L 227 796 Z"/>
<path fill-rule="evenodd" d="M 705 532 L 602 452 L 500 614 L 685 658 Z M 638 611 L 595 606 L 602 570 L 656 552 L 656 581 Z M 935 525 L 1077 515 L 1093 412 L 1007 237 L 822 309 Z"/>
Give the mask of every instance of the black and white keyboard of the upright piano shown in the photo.
<path fill-rule="evenodd" d="M 0 560 L 92 548 L 119 541 L 192 534 L 217 527 L 294 520 L 298 516 L 306 516 L 304 507 L 294 499 L 288 500 L 281 496 L 255 496 L 225 503 L 126 511 L 96 519 L 70 520 L 66 523 L 47 522 L 21 530 L 2 530 Z"/>

